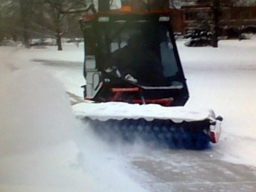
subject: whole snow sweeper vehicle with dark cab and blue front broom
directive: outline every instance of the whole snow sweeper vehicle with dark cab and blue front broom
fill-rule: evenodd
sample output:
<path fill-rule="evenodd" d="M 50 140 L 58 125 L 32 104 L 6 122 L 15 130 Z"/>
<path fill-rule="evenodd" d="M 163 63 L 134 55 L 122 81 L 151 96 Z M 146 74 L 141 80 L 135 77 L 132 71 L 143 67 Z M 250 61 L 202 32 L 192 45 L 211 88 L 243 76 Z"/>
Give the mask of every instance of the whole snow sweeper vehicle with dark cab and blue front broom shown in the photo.
<path fill-rule="evenodd" d="M 218 142 L 222 117 L 183 107 L 189 93 L 168 11 L 106 8 L 80 25 L 86 102 L 74 107 L 97 133 L 178 149 Z"/>

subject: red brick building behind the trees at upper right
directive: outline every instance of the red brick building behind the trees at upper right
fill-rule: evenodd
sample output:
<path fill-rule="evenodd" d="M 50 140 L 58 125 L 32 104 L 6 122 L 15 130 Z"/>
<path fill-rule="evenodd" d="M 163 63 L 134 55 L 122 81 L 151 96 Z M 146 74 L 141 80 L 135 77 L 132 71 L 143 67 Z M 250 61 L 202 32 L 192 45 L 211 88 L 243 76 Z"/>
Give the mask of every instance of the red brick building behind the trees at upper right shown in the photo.
<path fill-rule="evenodd" d="M 223 2 L 219 7 L 219 27 L 222 34 L 225 35 L 230 29 L 256 29 L 256 1 L 237 1 L 233 4 L 230 1 Z M 199 14 L 205 17 L 210 26 L 214 24 L 213 10 L 205 3 L 198 3 L 197 0 L 183 1 L 179 10 L 172 8 L 171 12 L 176 33 L 185 34 L 188 30 L 197 28 Z"/>

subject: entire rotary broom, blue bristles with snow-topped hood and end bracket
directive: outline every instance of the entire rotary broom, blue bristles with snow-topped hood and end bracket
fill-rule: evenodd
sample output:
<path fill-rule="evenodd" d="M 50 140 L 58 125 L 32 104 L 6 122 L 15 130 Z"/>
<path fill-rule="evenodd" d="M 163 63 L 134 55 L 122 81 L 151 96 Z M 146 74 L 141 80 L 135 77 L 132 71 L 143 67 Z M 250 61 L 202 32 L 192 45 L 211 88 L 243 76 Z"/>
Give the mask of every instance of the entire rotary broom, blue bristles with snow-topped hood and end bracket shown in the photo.
<path fill-rule="evenodd" d="M 118 139 L 172 149 L 203 150 L 221 134 L 221 116 L 212 110 L 121 102 L 80 103 L 73 110 L 104 140 Z"/>

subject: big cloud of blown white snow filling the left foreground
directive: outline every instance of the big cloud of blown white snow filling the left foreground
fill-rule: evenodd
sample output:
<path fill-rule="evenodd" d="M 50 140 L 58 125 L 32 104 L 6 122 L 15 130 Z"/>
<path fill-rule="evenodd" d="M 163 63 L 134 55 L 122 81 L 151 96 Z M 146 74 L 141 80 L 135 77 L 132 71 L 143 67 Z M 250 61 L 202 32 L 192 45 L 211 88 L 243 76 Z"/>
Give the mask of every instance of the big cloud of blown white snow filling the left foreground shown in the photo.
<path fill-rule="evenodd" d="M 13 52 L 0 49 L 0 191 L 145 191 L 75 119 L 63 85 Z"/>

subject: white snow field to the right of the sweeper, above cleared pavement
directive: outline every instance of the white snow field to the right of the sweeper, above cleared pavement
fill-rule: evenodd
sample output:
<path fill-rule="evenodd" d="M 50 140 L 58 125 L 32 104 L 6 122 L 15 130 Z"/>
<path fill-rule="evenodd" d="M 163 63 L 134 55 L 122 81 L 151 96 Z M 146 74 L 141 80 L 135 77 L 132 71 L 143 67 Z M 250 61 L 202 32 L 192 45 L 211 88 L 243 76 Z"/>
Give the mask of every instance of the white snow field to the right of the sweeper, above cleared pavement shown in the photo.
<path fill-rule="evenodd" d="M 179 51 L 190 98 L 186 106 L 209 107 L 222 115 L 222 135 L 214 150 L 223 159 L 256 166 L 256 41 L 224 40 L 219 48 Z"/>

